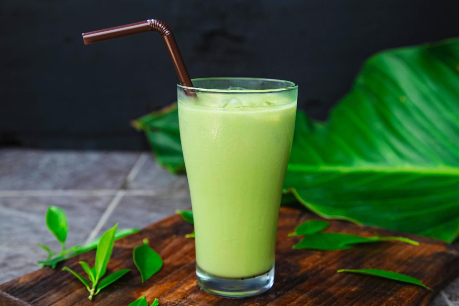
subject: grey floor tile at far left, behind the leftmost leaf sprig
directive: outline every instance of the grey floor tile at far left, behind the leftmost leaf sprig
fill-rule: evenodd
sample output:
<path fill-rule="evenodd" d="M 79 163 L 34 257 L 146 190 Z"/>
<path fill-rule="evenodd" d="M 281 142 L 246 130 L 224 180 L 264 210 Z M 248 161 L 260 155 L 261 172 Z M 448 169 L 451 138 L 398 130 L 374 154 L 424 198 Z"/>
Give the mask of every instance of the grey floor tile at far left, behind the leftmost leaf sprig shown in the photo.
<path fill-rule="evenodd" d="M 67 214 L 67 246 L 83 243 L 110 202 L 111 197 L 12 197 L 0 198 L 0 283 L 39 268 L 46 258 L 37 243 L 59 251 L 60 244 L 45 225 L 48 206 Z"/>

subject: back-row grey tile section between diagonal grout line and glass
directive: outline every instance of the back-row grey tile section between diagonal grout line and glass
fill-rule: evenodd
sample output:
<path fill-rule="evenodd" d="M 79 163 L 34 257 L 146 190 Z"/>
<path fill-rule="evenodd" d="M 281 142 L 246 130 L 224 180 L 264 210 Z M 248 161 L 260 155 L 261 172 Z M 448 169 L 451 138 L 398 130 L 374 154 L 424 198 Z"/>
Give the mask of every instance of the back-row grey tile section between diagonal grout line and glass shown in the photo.
<path fill-rule="evenodd" d="M 174 175 L 159 166 L 153 156 L 148 157 L 140 168 L 132 182 L 129 182 L 128 189 L 144 190 L 188 190 L 188 181 L 185 174 Z"/>

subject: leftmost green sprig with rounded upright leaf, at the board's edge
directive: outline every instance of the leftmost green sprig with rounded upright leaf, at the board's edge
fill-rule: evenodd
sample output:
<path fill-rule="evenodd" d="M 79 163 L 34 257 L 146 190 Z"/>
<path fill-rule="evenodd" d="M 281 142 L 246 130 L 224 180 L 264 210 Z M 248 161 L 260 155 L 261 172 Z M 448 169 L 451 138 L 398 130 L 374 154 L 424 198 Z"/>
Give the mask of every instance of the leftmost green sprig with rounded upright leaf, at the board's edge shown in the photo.
<path fill-rule="evenodd" d="M 53 269 L 56 267 L 57 263 L 69 259 L 78 254 L 87 252 L 89 250 L 94 250 L 101 237 L 96 238 L 85 245 L 74 245 L 68 249 L 65 248 L 65 242 L 68 234 L 68 223 L 67 216 L 65 211 L 57 206 L 50 206 L 46 211 L 46 227 L 49 231 L 56 237 L 56 239 L 61 243 L 61 252 L 56 255 L 56 252 L 53 252 L 51 248 L 47 245 L 37 244 L 40 248 L 45 250 L 48 253 L 48 256 L 43 261 L 37 261 L 37 263 L 44 267 L 49 266 Z M 115 233 L 115 240 L 139 232 L 138 228 L 125 228 L 117 230 Z"/>

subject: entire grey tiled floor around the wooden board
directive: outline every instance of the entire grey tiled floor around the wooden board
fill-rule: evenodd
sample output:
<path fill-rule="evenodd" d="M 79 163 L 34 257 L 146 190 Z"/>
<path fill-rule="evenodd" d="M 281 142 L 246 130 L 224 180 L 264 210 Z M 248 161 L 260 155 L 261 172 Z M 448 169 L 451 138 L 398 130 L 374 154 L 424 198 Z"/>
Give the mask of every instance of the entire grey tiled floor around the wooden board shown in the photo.
<path fill-rule="evenodd" d="M 45 226 L 50 205 L 66 211 L 74 245 L 116 222 L 143 228 L 191 203 L 186 177 L 169 174 L 148 152 L 2 149 L 0 283 L 38 268 L 45 252 L 36 243 L 59 248 Z M 459 306 L 459 278 L 431 306 Z"/>

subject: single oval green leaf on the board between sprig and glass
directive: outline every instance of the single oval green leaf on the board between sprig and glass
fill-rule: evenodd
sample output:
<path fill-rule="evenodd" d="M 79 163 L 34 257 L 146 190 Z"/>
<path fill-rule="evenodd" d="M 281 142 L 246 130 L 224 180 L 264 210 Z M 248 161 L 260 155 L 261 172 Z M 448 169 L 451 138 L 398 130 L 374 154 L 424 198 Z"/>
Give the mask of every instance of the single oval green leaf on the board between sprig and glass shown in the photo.
<path fill-rule="evenodd" d="M 162 267 L 161 256 L 151 249 L 147 239 L 144 239 L 143 242 L 143 245 L 136 246 L 132 251 L 134 264 L 140 272 L 142 283 L 151 278 Z"/>

